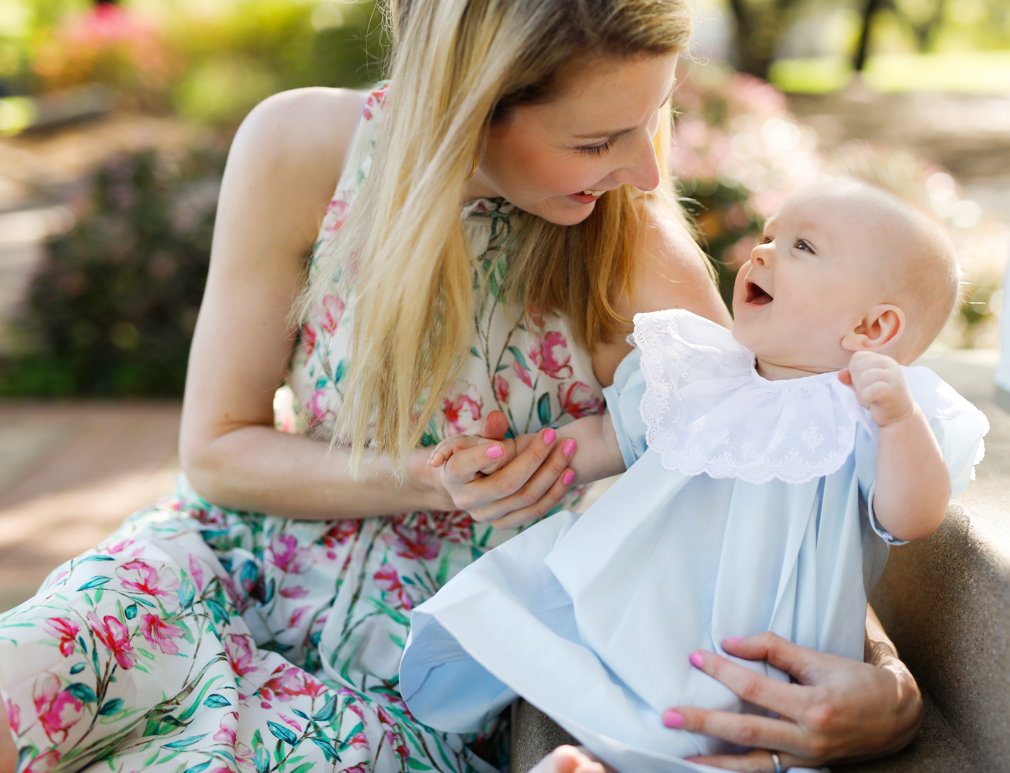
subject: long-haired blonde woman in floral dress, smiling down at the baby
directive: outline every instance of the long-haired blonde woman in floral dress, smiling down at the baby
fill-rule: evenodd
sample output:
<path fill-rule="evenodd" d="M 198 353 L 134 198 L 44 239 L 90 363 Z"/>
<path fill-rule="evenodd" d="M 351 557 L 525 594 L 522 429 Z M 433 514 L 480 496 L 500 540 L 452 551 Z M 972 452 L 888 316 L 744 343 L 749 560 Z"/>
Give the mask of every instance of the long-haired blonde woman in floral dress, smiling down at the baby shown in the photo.
<path fill-rule="evenodd" d="M 548 427 L 602 410 L 627 317 L 729 322 L 655 153 L 683 0 L 392 5 L 392 86 L 278 95 L 236 135 L 185 478 L 0 621 L 0 773 L 493 770 L 494 728 L 434 733 L 400 700 L 410 608 L 575 501 L 576 449 Z M 282 381 L 294 432 L 274 428 Z M 492 407 L 509 425 L 485 433 L 547 428 L 492 476 L 460 455 L 440 484 L 419 442 Z M 918 693 L 884 647 L 869 665 L 741 643 L 815 686 L 706 669 L 796 721 L 681 708 L 681 726 L 786 765 L 900 748 Z"/>

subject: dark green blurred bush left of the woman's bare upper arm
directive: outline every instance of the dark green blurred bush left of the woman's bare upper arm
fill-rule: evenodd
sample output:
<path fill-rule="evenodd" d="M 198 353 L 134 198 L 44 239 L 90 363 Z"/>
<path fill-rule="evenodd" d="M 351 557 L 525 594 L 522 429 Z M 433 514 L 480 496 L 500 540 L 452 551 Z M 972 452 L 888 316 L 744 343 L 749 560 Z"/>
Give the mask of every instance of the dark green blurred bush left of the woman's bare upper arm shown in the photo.
<path fill-rule="evenodd" d="M 177 395 L 207 278 L 224 156 L 108 161 L 44 246 L 0 394 Z"/>

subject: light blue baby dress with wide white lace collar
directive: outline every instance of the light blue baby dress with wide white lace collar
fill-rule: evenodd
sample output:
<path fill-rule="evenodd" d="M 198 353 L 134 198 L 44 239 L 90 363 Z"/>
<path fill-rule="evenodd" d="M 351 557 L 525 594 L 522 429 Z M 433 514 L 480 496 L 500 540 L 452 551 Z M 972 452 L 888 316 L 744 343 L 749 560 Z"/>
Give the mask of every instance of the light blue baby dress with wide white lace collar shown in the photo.
<path fill-rule="evenodd" d="M 761 711 L 693 668 L 772 631 L 863 659 L 888 545 L 876 425 L 836 373 L 769 381 L 729 330 L 635 316 L 607 406 L 627 472 L 464 569 L 413 610 L 400 688 L 422 722 L 476 731 L 517 695 L 623 773 L 736 751 L 663 726 L 672 705 Z M 927 368 L 903 368 L 961 493 L 989 425 Z M 788 681 L 768 664 L 738 660 Z"/>

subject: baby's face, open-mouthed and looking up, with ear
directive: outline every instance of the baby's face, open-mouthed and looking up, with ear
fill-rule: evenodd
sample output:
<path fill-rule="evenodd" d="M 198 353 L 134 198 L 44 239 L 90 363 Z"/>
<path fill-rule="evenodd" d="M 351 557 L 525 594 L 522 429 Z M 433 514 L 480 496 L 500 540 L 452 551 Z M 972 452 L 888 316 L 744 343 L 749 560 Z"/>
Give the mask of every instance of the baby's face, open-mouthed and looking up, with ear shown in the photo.
<path fill-rule="evenodd" d="M 842 340 L 875 304 L 891 302 L 887 267 L 907 248 L 894 214 L 885 194 L 854 181 L 825 180 L 790 196 L 737 275 L 733 336 L 760 363 L 844 368 L 852 353 Z"/>

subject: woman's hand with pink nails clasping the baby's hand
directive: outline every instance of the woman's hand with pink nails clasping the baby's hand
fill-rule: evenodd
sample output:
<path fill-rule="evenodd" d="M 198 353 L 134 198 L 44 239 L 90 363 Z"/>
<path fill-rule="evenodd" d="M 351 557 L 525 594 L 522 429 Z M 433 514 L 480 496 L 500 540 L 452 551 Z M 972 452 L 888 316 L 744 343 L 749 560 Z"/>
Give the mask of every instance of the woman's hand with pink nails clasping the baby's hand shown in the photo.
<path fill-rule="evenodd" d="M 571 488 L 572 476 L 565 473 L 575 455 L 574 449 L 572 456 L 565 454 L 567 445 L 556 443 L 557 432 L 549 427 L 529 436 L 528 443 L 505 442 L 507 432 L 505 414 L 491 411 L 481 424 L 481 438 L 450 439 L 433 452 L 451 452 L 437 475 L 453 505 L 497 528 L 522 525 L 549 512 Z M 493 471 L 482 472 L 488 469 Z"/>

